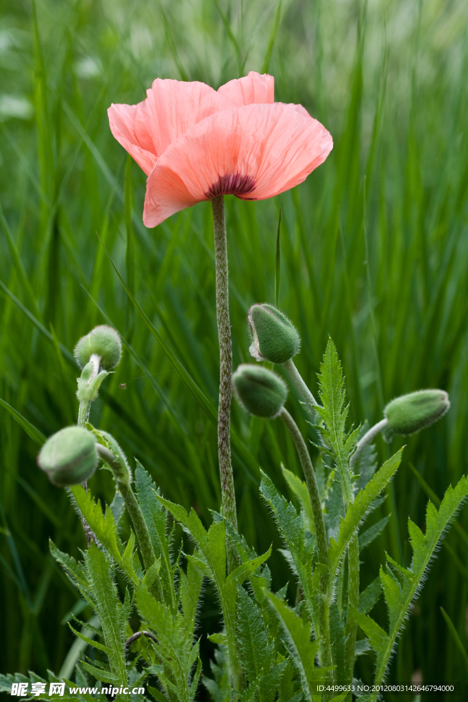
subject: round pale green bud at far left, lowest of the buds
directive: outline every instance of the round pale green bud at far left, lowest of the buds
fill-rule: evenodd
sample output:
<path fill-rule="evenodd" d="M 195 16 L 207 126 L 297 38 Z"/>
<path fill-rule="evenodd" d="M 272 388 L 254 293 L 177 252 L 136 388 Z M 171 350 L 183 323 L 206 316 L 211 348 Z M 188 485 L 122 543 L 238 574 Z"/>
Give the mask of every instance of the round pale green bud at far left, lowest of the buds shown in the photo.
<path fill-rule="evenodd" d="M 85 482 L 98 466 L 95 437 L 81 427 L 61 429 L 42 446 L 37 463 L 59 487 Z"/>

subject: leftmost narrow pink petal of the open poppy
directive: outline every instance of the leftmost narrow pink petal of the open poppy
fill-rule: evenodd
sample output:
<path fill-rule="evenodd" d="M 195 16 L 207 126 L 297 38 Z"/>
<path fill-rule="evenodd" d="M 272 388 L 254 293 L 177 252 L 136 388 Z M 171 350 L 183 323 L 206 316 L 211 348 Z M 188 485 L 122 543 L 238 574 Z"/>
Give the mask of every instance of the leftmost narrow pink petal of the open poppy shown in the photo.
<path fill-rule="evenodd" d="M 114 105 L 107 110 L 109 126 L 116 140 L 128 151 L 145 171 L 147 176 L 153 170 L 157 157 L 152 142 L 148 138 L 145 120 L 138 116 L 145 112 L 145 102 L 138 105 Z"/>

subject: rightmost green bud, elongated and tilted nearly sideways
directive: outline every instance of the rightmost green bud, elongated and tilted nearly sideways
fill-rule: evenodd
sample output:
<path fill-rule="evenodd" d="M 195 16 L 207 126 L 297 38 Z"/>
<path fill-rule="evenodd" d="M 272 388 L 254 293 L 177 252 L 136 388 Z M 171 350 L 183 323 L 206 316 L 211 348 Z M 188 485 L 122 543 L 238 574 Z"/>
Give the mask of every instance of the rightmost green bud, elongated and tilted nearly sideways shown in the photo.
<path fill-rule="evenodd" d="M 449 408 L 445 390 L 417 390 L 392 399 L 384 414 L 390 434 L 410 435 L 434 424 Z"/>

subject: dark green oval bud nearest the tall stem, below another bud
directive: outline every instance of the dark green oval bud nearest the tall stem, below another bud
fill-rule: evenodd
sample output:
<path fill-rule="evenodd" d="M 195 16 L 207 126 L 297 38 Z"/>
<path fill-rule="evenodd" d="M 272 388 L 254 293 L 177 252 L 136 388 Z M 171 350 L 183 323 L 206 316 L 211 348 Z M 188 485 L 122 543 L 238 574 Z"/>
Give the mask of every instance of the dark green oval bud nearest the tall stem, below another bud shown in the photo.
<path fill-rule="evenodd" d="M 278 416 L 288 395 L 283 380 L 259 366 L 239 366 L 232 376 L 232 385 L 243 409 L 256 417 Z"/>

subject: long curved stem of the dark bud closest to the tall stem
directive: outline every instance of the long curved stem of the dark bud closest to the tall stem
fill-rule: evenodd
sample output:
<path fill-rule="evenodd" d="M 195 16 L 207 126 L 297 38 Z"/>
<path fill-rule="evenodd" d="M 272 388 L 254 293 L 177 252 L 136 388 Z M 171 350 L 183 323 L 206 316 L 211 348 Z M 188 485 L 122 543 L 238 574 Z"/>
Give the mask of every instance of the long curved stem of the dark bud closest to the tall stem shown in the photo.
<path fill-rule="evenodd" d="M 302 470 L 304 471 L 305 482 L 307 485 L 307 490 L 309 491 L 310 504 L 312 506 L 312 515 L 314 517 L 317 557 L 319 559 L 319 563 L 326 567 L 326 572 L 321 572 L 320 574 L 320 589 L 323 595 L 325 595 L 328 588 L 328 547 L 325 522 L 323 522 L 319 486 L 317 485 L 309 451 L 307 451 L 307 446 L 302 438 L 302 434 L 300 433 L 297 424 L 290 416 L 288 410 L 284 407 L 279 416 L 288 428 L 297 449 L 297 453 L 299 453 Z M 323 668 L 328 668 L 330 665 L 333 665 L 330 643 L 330 600 L 328 597 L 323 596 L 319 598 L 319 631 L 316 632 L 316 635 L 317 637 L 321 637 L 321 664 Z M 333 673 L 330 673 L 330 677 L 333 680 Z"/>

